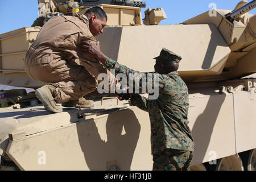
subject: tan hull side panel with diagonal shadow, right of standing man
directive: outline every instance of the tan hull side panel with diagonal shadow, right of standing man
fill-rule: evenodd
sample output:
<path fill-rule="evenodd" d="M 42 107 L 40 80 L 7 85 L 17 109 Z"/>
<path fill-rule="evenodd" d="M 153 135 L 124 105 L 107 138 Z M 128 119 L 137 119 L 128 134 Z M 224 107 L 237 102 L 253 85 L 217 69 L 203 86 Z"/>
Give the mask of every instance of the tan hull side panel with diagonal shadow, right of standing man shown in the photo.
<path fill-rule="evenodd" d="M 195 140 L 194 164 L 236 154 L 232 94 L 189 95 L 189 127 Z"/>

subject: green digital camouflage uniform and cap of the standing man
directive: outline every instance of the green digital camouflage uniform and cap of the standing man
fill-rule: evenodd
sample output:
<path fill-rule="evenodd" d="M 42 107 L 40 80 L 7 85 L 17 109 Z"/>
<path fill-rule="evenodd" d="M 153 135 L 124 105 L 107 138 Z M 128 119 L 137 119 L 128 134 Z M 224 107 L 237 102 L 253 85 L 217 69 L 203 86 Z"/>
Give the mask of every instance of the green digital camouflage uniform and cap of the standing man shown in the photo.
<path fill-rule="evenodd" d="M 163 48 L 160 56 L 155 59 L 162 58 L 163 56 L 170 61 L 179 63 L 181 57 L 170 51 L 170 55 L 174 56 L 170 59 L 166 53 L 167 51 L 169 50 Z M 108 69 L 114 68 L 115 74 L 125 73 L 127 77 L 129 73 L 142 75 L 141 72 L 129 69 L 125 65 L 118 64 L 109 58 L 106 60 L 105 67 Z M 148 75 L 150 73 L 145 74 Z M 176 166 L 183 166 L 182 169 L 188 169 L 187 166 L 189 165 L 187 162 L 191 162 L 194 146 L 191 130 L 188 127 L 189 104 L 187 85 L 180 78 L 177 71 L 170 72 L 167 75 L 156 72 L 152 72 L 151 74 L 152 78 L 157 77 L 159 80 L 158 85 L 154 85 L 159 86 L 159 97 L 155 100 L 148 100 L 148 98 L 139 94 L 133 94 L 130 104 L 149 113 L 151 121 L 151 151 L 155 163 L 154 169 L 170 170 L 170 167 L 164 167 L 164 164 L 159 166 L 156 163 L 161 161 L 163 156 L 167 157 L 167 161 L 174 162 L 174 155 L 180 156 L 176 160 Z M 147 84 L 149 82 L 151 80 L 147 80 Z M 172 150 L 166 151 L 166 149 Z M 185 163 L 181 163 L 182 161 L 185 161 Z"/>

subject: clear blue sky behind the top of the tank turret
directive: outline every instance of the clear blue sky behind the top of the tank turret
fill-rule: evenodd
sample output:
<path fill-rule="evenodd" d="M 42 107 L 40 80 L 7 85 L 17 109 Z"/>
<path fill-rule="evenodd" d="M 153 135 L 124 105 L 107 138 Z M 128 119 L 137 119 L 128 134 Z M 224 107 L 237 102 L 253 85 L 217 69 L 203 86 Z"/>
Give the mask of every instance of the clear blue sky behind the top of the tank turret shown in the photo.
<path fill-rule="evenodd" d="M 241 0 L 144 0 L 146 9 L 151 7 L 162 7 L 166 12 L 167 19 L 160 24 L 182 23 L 184 20 L 199 15 L 212 9 L 210 3 L 216 4 L 216 9 L 233 10 Z M 248 0 L 249 2 L 251 0 Z M 144 16 L 144 11 L 142 14 Z M 256 13 L 256 8 L 250 11 Z M 0 34 L 16 30 L 22 27 L 29 27 L 38 18 L 38 0 L 0 0 Z"/>

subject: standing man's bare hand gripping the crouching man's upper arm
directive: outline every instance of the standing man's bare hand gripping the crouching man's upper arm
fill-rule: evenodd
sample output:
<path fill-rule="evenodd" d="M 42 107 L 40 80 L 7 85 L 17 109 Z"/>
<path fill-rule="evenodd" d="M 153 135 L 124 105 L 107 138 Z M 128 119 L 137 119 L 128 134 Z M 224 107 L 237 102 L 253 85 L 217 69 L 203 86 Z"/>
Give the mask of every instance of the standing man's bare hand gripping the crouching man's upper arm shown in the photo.
<path fill-rule="evenodd" d="M 82 41 L 81 43 L 82 44 L 78 46 L 79 51 L 105 64 L 107 57 L 101 52 L 100 42 L 97 42 L 96 46 L 85 41 Z"/>

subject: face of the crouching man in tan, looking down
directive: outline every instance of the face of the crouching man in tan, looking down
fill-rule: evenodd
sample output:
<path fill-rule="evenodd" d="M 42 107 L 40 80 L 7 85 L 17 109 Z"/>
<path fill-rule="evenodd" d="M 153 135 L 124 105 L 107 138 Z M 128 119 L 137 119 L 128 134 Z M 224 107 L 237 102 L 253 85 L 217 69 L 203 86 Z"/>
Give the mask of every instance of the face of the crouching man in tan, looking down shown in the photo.
<path fill-rule="evenodd" d="M 97 36 L 103 33 L 104 27 L 106 26 L 106 18 L 97 18 L 97 15 L 93 15 L 89 20 L 89 29 L 93 36 Z"/>

